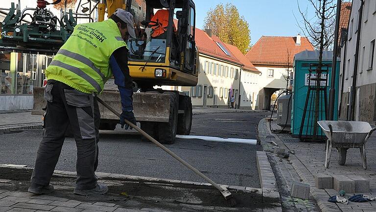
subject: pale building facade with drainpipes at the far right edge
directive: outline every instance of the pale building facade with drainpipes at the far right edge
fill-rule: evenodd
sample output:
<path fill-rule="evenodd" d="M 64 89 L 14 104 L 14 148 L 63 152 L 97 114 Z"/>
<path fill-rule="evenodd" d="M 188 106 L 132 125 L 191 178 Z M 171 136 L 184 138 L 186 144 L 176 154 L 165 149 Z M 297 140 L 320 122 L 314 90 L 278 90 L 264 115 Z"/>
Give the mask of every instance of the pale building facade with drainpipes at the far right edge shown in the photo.
<path fill-rule="evenodd" d="M 363 7 L 361 0 L 352 1 L 347 39 L 341 48 L 339 118 L 373 124 L 376 121 L 376 0 L 363 1 Z"/>

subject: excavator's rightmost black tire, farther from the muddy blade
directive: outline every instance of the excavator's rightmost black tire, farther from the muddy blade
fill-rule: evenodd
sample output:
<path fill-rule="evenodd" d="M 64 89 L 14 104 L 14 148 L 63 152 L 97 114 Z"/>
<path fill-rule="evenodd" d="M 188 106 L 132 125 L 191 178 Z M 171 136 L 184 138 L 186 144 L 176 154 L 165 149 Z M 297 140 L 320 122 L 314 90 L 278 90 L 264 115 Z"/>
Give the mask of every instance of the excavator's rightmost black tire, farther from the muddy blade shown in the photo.
<path fill-rule="evenodd" d="M 178 114 L 177 134 L 189 135 L 192 127 L 192 102 L 189 96 L 179 96 L 179 110 L 184 110 L 184 113 Z"/>

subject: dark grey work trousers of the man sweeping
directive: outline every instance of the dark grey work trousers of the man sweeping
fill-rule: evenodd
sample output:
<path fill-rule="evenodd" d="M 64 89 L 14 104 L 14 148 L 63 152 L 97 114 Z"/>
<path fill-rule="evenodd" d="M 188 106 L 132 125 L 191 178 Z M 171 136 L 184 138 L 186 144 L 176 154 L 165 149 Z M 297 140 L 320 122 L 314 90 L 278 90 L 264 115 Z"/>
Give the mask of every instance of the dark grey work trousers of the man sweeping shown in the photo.
<path fill-rule="evenodd" d="M 48 185 L 59 159 L 65 135 L 71 133 L 77 146 L 76 188 L 91 189 L 97 185 L 94 171 L 98 165 L 100 113 L 93 94 L 48 80 L 45 90 L 47 110 L 45 130 L 39 144 L 31 184 Z"/>

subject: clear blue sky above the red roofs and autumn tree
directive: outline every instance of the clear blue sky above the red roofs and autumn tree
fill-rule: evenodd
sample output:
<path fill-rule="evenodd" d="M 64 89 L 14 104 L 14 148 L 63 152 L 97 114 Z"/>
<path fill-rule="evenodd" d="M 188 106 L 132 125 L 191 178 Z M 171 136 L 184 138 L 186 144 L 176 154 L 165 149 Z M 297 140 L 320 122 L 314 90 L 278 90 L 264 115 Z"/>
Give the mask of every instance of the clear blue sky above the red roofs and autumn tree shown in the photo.
<path fill-rule="evenodd" d="M 251 43 L 255 44 L 262 35 L 295 36 L 301 32 L 294 15 L 301 19 L 297 0 L 195 0 L 196 27 L 202 29 L 206 13 L 217 4 L 233 3 L 244 16 L 251 29 Z M 306 9 L 307 0 L 299 0 Z M 308 11 L 312 11 L 309 7 Z M 301 33 L 302 34 L 302 33 Z"/>

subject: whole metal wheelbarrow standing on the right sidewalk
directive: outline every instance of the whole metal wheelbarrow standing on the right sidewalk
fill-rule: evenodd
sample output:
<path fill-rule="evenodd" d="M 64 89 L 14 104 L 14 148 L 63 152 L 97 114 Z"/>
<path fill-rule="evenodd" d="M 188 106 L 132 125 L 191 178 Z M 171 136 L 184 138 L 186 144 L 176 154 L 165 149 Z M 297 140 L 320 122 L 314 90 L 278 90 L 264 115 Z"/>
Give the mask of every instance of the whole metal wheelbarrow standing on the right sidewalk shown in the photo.
<path fill-rule="evenodd" d="M 338 164 L 345 165 L 349 148 L 359 148 L 363 161 L 363 168 L 367 169 L 366 143 L 372 132 L 368 122 L 360 121 L 318 121 L 325 135 L 328 137 L 325 156 L 325 168 L 329 167 L 331 148 L 338 151 Z"/>

